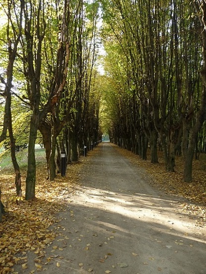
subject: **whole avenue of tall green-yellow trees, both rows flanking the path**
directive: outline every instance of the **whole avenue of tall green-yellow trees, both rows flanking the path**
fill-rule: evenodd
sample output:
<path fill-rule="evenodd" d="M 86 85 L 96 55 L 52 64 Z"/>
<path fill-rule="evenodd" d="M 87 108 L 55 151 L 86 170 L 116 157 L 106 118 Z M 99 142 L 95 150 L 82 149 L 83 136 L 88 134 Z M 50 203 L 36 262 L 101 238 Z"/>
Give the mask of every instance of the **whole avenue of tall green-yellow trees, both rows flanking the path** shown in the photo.
<path fill-rule="evenodd" d="M 61 152 L 78 161 L 103 132 L 142 159 L 150 149 L 152 163 L 161 149 L 167 171 L 181 155 L 192 181 L 193 159 L 206 153 L 205 0 L 1 0 L 0 18 L 0 146 L 17 201 L 16 145 L 28 144 L 33 199 L 39 139 L 51 181 Z"/>

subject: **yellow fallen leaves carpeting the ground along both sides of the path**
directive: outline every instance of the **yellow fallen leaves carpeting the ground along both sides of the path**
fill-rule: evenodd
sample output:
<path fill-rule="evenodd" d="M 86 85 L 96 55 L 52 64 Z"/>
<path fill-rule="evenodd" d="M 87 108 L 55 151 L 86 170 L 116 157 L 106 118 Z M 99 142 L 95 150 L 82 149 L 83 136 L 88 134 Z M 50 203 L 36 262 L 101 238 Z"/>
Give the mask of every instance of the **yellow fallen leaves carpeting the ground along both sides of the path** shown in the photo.
<path fill-rule="evenodd" d="M 166 172 L 162 153 L 159 152 L 159 164 L 151 164 L 148 160 L 133 153 L 114 146 L 131 163 L 142 166 L 151 176 L 151 181 L 158 189 L 168 194 L 187 198 L 191 203 L 183 203 L 183 210 L 189 215 L 196 215 L 199 220 L 196 225 L 206 225 L 206 164 L 205 159 L 194 160 L 193 177 L 191 183 L 183 181 L 183 160 L 176 159 L 175 172 Z M 0 223 L 0 273 L 13 271 L 15 264 L 21 264 L 22 269 L 27 268 L 26 252 L 31 250 L 37 255 L 37 265 L 41 267 L 41 257 L 45 256 L 46 247 L 55 239 L 57 231 L 50 230 L 53 223 L 60 220 L 56 213 L 66 210 L 65 202 L 70 202 L 70 195 L 79 184 L 80 169 L 90 161 L 90 157 L 98 154 L 98 149 L 90 152 L 87 159 L 77 164 L 69 165 L 65 177 L 57 175 L 52 182 L 46 179 L 47 168 L 44 164 L 38 165 L 36 198 L 32 201 L 23 201 L 20 206 L 14 203 L 15 187 L 12 170 L 1 172 L 2 202 L 6 206 L 8 215 Z M 204 155 L 202 156 L 204 157 Z M 155 168 L 154 168 L 155 167 Z M 22 172 L 22 182 L 25 181 L 26 172 Z M 22 186 L 23 193 L 25 186 Z M 110 255 L 110 254 L 109 254 Z M 133 256 L 138 254 L 133 253 Z M 50 259 L 50 258 L 49 258 Z M 52 258 L 51 258 L 52 260 Z M 37 267 L 38 269 L 38 267 Z M 92 270 L 91 270 L 92 271 Z M 34 273 L 34 271 L 33 271 Z"/>

